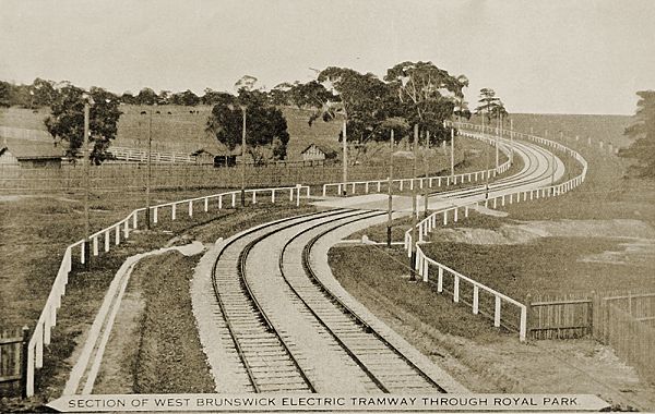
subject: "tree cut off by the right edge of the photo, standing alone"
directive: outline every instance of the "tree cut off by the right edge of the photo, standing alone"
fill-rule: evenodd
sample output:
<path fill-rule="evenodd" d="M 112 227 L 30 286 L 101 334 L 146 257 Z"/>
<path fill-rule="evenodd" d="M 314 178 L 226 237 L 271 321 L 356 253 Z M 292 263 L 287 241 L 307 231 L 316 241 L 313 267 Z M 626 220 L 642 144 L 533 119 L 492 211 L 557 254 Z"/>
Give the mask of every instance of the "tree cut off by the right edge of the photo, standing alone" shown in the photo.
<path fill-rule="evenodd" d="M 640 175 L 655 178 L 655 90 L 640 90 L 636 95 L 634 122 L 624 132 L 633 142 L 620 155 L 636 161 L 633 169 Z"/>

